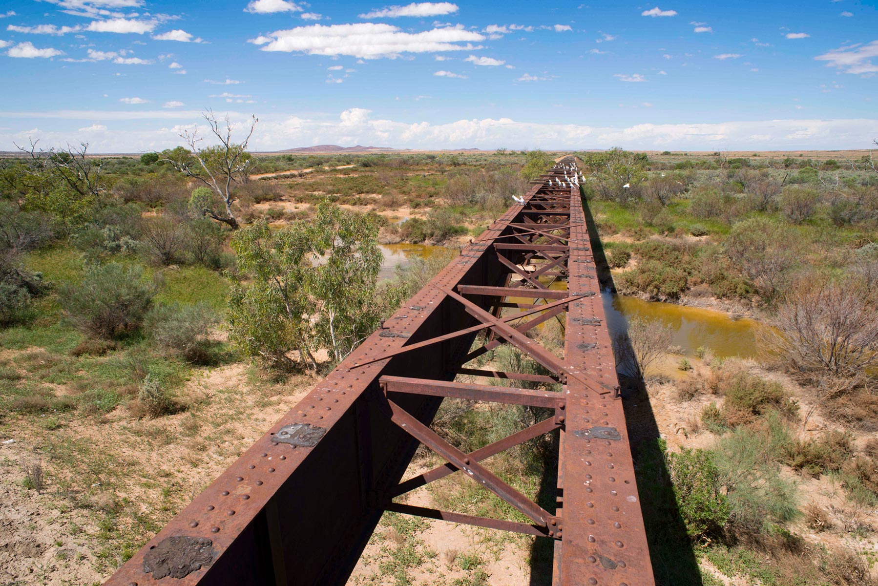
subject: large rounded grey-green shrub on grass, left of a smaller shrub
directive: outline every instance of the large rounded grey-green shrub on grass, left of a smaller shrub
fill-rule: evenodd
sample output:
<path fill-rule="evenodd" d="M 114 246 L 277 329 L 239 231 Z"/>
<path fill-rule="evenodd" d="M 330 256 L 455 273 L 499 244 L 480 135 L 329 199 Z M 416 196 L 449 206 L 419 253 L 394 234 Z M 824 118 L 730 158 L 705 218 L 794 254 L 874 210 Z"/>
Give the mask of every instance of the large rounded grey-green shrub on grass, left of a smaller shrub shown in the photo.
<path fill-rule="evenodd" d="M 140 266 L 108 263 L 87 267 L 81 283 L 61 289 L 59 301 L 77 329 L 113 339 L 140 328 L 154 296 Z"/>

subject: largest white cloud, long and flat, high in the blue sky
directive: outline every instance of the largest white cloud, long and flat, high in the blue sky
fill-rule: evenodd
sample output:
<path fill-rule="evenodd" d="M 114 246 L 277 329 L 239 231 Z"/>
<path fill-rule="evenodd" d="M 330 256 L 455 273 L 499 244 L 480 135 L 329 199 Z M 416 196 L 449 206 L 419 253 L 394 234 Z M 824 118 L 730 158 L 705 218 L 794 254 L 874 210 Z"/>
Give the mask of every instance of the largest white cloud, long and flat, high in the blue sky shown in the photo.
<path fill-rule="evenodd" d="M 248 42 L 263 51 L 299 52 L 317 55 L 350 55 L 363 59 L 396 58 L 403 53 L 433 53 L 481 48 L 464 41 L 485 40 L 485 36 L 463 26 L 434 28 L 422 33 L 402 33 L 393 25 L 309 25 L 275 31 Z"/>

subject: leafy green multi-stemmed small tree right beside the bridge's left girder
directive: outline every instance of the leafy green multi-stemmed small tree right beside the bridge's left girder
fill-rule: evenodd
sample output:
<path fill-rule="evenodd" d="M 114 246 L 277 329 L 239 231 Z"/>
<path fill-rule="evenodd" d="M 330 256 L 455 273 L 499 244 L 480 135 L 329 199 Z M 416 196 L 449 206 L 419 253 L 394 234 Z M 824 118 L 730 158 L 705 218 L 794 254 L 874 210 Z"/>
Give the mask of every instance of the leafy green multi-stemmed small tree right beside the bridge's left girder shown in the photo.
<path fill-rule="evenodd" d="M 229 299 L 231 338 L 249 356 L 291 365 L 299 351 L 347 356 L 378 325 L 374 302 L 381 251 L 378 227 L 362 214 L 321 204 L 310 221 L 272 232 L 264 221 L 242 229 L 232 248 L 241 273 Z"/>

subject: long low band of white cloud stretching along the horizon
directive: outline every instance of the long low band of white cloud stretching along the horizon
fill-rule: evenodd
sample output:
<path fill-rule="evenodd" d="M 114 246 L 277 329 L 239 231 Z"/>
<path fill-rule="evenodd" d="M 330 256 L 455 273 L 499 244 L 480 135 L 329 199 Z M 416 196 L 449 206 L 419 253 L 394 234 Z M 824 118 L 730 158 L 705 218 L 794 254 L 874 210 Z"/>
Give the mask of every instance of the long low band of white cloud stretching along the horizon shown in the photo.
<path fill-rule="evenodd" d="M 246 123 L 250 112 L 228 112 L 233 123 Z M 867 148 L 870 129 L 878 119 L 761 119 L 679 124 L 637 124 L 630 127 L 590 127 L 578 124 L 546 124 L 508 118 L 459 119 L 446 124 L 427 120 L 403 122 L 371 119 L 371 112 L 351 108 L 341 115 L 305 116 L 296 112 L 263 113 L 252 148 L 263 151 L 307 144 L 381 144 L 396 148 L 610 148 L 630 150 L 801 150 Z M 162 150 L 180 144 L 183 125 L 200 119 L 198 110 L 130 109 L 107 111 L 0 112 L 0 148 L 12 150 L 13 141 L 28 135 L 40 144 L 63 147 L 72 139 L 89 142 L 95 152 Z M 113 132 L 44 132 L 33 128 L 32 119 L 83 120 L 99 125 L 112 120 L 144 120 L 136 129 Z M 22 125 L 18 126 L 18 120 Z M 53 123 L 55 124 L 55 123 Z M 150 126 L 151 125 L 151 126 Z M 58 124 L 61 126 L 61 124 Z M 82 126 L 82 125 L 81 125 Z M 70 126 L 76 128 L 76 126 Z M 199 130 L 207 131 L 206 127 Z"/>

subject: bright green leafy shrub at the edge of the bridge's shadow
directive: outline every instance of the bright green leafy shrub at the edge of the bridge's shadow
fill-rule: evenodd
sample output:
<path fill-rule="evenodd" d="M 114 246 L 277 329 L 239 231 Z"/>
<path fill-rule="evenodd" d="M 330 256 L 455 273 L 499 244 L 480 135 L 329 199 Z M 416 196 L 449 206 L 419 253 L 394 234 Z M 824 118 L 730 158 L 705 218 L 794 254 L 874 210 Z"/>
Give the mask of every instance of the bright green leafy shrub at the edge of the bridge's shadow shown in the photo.
<path fill-rule="evenodd" d="M 683 448 L 669 453 L 667 462 L 688 536 L 702 539 L 722 532 L 731 506 L 713 452 Z"/>

